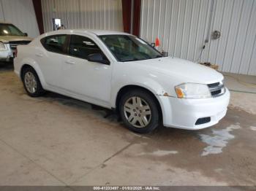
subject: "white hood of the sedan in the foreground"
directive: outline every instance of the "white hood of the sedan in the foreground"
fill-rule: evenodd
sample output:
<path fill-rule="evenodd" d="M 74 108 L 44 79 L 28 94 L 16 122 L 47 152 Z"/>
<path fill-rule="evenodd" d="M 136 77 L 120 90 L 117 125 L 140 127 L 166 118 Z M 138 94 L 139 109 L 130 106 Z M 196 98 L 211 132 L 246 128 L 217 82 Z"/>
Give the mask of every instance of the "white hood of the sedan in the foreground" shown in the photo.
<path fill-rule="evenodd" d="M 223 75 L 218 71 L 180 58 L 165 57 L 136 62 L 143 68 L 180 79 L 181 82 L 211 84 L 223 80 Z"/>

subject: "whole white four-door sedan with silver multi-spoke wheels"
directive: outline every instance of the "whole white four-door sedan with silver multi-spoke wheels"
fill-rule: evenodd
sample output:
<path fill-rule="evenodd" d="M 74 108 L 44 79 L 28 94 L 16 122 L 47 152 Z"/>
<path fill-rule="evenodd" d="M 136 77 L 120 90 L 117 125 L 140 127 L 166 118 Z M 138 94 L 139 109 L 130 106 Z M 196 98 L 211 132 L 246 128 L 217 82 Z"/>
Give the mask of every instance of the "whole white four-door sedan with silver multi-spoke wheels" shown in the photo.
<path fill-rule="evenodd" d="M 214 69 L 162 57 L 143 39 L 116 31 L 60 30 L 20 45 L 15 73 L 26 92 L 45 90 L 114 109 L 124 125 L 197 130 L 217 124 L 230 93 Z"/>

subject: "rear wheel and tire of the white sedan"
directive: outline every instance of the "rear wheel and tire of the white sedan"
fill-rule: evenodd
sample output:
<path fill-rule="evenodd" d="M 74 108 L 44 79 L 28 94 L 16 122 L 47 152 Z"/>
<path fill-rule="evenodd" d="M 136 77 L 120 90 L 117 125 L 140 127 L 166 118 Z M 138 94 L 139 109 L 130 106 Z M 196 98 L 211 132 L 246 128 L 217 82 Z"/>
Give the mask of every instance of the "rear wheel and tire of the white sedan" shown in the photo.
<path fill-rule="evenodd" d="M 27 67 L 22 72 L 22 82 L 23 86 L 31 97 L 39 97 L 45 90 L 43 90 L 39 77 L 37 76 L 37 72 L 34 71 L 33 68 Z"/>

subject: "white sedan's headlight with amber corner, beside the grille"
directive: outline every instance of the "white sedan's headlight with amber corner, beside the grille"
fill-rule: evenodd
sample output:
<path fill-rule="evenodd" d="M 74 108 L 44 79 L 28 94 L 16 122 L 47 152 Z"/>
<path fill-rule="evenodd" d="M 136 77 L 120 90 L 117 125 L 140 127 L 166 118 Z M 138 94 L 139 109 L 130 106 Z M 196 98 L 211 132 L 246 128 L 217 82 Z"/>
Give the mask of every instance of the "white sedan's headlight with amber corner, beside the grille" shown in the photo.
<path fill-rule="evenodd" d="M 207 85 L 184 83 L 175 87 L 178 98 L 211 98 Z"/>

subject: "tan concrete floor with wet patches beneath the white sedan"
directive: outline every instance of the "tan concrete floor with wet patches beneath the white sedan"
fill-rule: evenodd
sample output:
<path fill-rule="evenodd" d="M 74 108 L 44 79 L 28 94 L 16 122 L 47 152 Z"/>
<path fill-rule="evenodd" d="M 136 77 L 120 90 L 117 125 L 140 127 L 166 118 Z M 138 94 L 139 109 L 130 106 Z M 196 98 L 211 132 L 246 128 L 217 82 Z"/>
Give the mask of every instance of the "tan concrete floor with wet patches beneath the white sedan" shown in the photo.
<path fill-rule="evenodd" d="M 82 101 L 30 98 L 0 65 L 0 185 L 255 185 L 256 95 L 231 96 L 212 128 L 141 136 Z"/>

